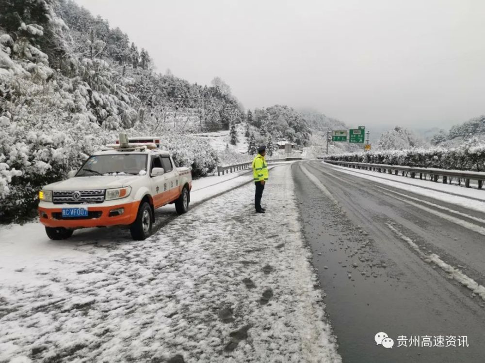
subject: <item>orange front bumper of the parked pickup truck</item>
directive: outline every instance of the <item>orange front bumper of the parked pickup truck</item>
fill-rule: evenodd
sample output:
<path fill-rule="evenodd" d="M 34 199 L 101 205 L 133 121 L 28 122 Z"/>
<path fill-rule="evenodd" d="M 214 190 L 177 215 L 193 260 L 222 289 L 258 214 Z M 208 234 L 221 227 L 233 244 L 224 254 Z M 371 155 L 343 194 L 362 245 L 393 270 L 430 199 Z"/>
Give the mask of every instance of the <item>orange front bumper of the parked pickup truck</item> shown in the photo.
<path fill-rule="evenodd" d="M 111 204 L 111 203 L 110 203 Z M 126 226 L 132 224 L 138 213 L 140 201 L 132 201 L 128 203 L 114 204 L 114 205 L 55 205 L 52 203 L 39 203 L 39 220 L 46 227 L 65 227 L 65 228 L 89 228 L 89 227 L 108 227 L 108 226 Z M 88 208 L 89 217 L 85 218 L 62 218 L 63 208 Z M 110 211 L 118 208 L 123 208 L 124 212 L 121 215 L 113 215 L 110 217 Z"/>

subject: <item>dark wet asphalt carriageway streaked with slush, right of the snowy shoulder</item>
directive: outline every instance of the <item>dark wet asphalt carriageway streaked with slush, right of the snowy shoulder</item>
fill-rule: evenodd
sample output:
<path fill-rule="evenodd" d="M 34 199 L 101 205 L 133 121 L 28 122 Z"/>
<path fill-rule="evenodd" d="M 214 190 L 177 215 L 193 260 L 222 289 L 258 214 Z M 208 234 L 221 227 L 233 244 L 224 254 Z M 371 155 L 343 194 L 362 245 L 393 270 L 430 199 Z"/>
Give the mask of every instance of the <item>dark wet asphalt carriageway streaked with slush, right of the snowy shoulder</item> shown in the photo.
<path fill-rule="evenodd" d="M 343 362 L 485 362 L 485 302 L 423 258 L 436 254 L 485 285 L 485 236 L 446 217 L 485 227 L 480 221 L 484 213 L 358 178 L 319 161 L 293 164 L 292 172 L 305 238 Z M 426 204 L 424 210 L 417 206 L 424 205 L 420 201 L 442 208 Z M 379 332 L 394 340 L 393 348 L 376 345 Z M 453 341 L 450 336 L 467 336 L 469 347 L 457 342 L 455 348 L 418 348 L 414 342 L 413 347 L 398 347 L 399 336 L 406 336 L 409 345 L 417 335 L 429 336 L 432 344 L 435 336 L 444 336 L 445 346 Z"/>

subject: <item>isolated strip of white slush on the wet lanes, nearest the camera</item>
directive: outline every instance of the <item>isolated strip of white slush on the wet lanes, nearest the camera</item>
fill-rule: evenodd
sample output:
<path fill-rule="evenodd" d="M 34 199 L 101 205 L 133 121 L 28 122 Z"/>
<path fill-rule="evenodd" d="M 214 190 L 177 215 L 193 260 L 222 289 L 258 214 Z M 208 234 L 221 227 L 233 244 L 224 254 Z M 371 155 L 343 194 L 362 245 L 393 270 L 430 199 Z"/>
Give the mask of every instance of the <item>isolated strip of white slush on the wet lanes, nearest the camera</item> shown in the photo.
<path fill-rule="evenodd" d="M 477 294 L 478 296 L 480 296 L 480 298 L 482 298 L 482 300 L 485 301 L 485 287 L 478 284 L 475 280 L 468 277 L 460 270 L 454 268 L 453 266 L 443 261 L 438 255 L 434 253 L 430 255 L 425 254 L 421 250 L 420 246 L 418 246 L 413 240 L 411 240 L 409 237 L 405 236 L 403 233 L 397 230 L 390 223 L 386 223 L 386 226 L 388 226 L 388 228 L 391 231 L 393 231 L 399 238 L 407 242 L 407 244 L 409 244 L 409 246 L 411 246 L 411 248 L 414 249 L 418 253 L 418 256 L 421 257 L 424 261 L 429 263 L 434 263 L 440 269 L 449 273 L 450 278 L 453 278 L 463 286 L 468 287 L 471 291 L 473 291 L 473 293 Z"/>

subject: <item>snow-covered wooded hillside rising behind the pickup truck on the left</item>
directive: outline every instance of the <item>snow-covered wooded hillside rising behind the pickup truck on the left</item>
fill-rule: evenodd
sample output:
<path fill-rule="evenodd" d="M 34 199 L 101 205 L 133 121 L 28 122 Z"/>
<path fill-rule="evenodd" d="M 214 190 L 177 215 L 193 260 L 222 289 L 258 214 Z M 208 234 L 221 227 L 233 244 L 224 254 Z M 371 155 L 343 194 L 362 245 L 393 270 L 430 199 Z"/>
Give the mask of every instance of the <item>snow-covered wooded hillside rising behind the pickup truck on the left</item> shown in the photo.
<path fill-rule="evenodd" d="M 120 132 L 161 136 L 179 166 L 191 167 L 193 176 L 199 177 L 212 173 L 218 164 L 250 160 L 246 130 L 251 129 L 256 144 L 285 139 L 306 147 L 314 143 L 312 148 L 319 149 L 322 140 L 312 136 L 312 130 L 340 125 L 288 106 L 246 112 L 219 77 L 202 86 L 171 72 L 161 75 L 145 49 L 73 1 L 19 0 L 4 5 L 2 222 L 35 216 L 36 193 L 43 185 L 65 178 Z M 237 125 L 235 145 L 227 134 L 231 125 Z"/>

